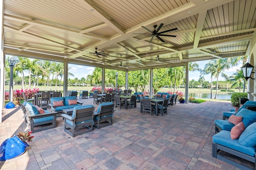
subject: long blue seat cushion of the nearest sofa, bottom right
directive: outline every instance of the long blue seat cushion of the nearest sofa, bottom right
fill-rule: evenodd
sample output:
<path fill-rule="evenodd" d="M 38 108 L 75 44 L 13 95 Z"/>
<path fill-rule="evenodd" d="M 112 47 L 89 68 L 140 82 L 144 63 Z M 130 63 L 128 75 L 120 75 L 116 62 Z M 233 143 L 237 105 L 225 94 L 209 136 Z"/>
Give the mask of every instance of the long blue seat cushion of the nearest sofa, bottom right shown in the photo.
<path fill-rule="evenodd" d="M 256 147 L 245 147 L 240 145 L 238 139 L 231 139 L 230 131 L 220 131 L 212 137 L 212 142 L 223 145 L 230 149 L 254 156 Z"/>

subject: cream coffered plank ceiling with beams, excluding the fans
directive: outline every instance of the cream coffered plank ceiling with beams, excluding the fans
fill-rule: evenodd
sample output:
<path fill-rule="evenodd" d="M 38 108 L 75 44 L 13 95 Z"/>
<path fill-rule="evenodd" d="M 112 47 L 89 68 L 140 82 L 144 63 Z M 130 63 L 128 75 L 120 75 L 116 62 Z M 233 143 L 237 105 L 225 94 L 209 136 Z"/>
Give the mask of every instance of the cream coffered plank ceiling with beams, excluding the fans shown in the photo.
<path fill-rule="evenodd" d="M 256 0 L 4 0 L 5 53 L 119 70 L 243 56 L 255 30 Z"/>

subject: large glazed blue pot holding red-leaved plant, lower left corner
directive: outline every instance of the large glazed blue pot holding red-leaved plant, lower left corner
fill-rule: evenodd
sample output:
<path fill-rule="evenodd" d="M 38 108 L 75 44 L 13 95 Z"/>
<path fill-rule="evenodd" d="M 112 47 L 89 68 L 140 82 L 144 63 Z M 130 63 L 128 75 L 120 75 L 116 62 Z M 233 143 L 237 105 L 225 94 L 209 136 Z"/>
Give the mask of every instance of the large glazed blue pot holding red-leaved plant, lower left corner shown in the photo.
<path fill-rule="evenodd" d="M 0 161 L 12 159 L 22 155 L 29 145 L 23 142 L 18 136 L 6 139 L 0 146 Z"/>

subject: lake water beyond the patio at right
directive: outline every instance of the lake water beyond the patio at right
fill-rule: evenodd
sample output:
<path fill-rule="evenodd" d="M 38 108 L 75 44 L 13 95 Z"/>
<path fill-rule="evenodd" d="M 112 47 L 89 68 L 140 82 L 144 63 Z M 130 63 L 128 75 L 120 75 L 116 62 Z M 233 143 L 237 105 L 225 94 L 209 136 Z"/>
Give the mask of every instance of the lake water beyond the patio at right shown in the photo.
<path fill-rule="evenodd" d="M 220 100 L 230 100 L 232 94 L 217 94 L 217 99 Z M 188 97 L 192 96 L 196 99 L 210 99 L 211 93 L 205 93 L 205 92 L 189 92 Z M 215 92 L 212 93 L 212 98 L 215 98 Z"/>

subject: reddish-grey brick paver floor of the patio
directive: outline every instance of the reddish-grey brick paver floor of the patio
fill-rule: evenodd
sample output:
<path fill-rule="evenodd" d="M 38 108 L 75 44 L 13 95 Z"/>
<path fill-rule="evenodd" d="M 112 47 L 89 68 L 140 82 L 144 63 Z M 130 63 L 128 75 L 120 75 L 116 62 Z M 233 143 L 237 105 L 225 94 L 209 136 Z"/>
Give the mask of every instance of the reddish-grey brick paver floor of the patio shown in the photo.
<path fill-rule="evenodd" d="M 79 100 L 92 104 L 92 98 Z M 212 157 L 214 120 L 232 108 L 230 102 L 177 103 L 168 107 L 167 115 L 158 117 L 142 115 L 137 104 L 135 109 L 117 108 L 113 125 L 74 138 L 64 132 L 64 121 L 58 117 L 56 128 L 34 133 L 27 151 L 0 162 L 0 168 L 235 169 Z M 4 109 L 2 114 L 1 143 L 26 130 L 20 107 Z"/>

